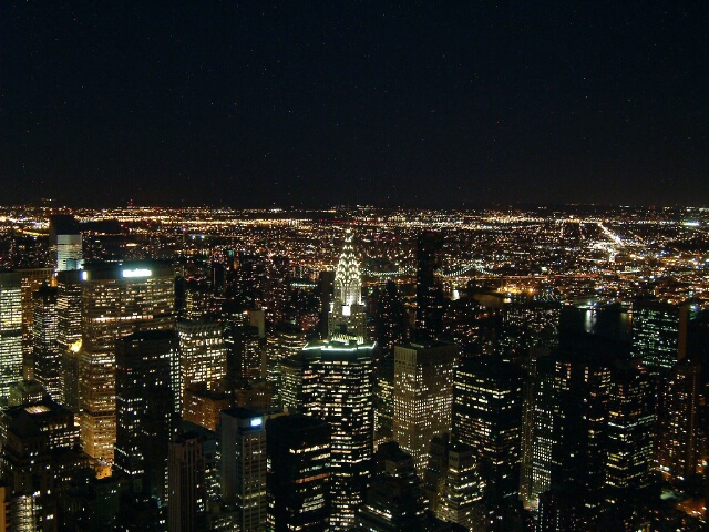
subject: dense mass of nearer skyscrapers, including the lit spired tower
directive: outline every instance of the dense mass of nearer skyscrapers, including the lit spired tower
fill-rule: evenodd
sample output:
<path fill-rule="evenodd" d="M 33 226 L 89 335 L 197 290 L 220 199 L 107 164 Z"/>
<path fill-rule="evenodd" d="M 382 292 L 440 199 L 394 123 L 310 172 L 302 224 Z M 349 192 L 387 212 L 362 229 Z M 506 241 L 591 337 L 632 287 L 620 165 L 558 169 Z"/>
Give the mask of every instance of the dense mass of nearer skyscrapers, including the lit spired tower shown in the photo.
<path fill-rule="evenodd" d="M 554 306 L 516 349 L 549 307 L 451 304 L 423 233 L 412 327 L 392 284 L 372 324 L 348 231 L 321 338 L 267 335 L 258 290 L 215 319 L 66 227 L 55 268 L 0 274 L 0 532 L 654 530 L 660 482 L 702 473 L 686 306 Z M 477 352 L 471 313 L 504 325 Z"/>

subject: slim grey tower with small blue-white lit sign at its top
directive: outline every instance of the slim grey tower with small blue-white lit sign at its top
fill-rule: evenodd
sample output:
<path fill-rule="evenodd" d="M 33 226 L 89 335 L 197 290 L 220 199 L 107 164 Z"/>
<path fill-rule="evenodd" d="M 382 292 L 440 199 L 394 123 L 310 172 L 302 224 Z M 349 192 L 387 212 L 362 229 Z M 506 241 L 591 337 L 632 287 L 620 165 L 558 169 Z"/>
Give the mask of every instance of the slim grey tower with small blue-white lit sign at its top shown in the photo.
<path fill-rule="evenodd" d="M 222 499 L 236 509 L 238 530 L 266 526 L 266 428 L 245 408 L 222 411 Z"/>

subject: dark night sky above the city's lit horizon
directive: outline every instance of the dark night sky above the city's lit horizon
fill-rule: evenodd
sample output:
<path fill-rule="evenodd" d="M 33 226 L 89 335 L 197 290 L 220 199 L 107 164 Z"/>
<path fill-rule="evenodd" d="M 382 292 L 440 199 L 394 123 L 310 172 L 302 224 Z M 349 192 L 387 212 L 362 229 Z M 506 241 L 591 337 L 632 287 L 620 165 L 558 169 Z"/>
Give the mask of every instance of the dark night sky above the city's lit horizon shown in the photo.
<path fill-rule="evenodd" d="M 0 2 L 0 204 L 709 206 L 709 2 Z"/>

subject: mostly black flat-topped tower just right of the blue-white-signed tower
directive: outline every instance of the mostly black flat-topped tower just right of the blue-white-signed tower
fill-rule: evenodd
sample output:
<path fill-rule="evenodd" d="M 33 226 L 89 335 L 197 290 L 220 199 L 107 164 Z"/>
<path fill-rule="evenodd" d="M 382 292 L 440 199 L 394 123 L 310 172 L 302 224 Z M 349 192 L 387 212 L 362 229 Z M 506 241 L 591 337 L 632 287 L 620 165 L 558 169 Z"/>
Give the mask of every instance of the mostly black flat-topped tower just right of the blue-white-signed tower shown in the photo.
<path fill-rule="evenodd" d="M 266 423 L 268 525 L 273 532 L 325 532 L 330 516 L 330 427 L 308 416 Z"/>

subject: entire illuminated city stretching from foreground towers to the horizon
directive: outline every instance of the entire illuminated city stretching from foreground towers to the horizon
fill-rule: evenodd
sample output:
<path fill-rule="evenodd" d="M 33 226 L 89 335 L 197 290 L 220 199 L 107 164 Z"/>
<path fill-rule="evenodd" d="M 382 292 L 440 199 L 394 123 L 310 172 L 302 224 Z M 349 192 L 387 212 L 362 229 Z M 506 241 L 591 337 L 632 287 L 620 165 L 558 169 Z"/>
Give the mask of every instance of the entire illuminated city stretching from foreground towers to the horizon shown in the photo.
<path fill-rule="evenodd" d="M 707 227 L 0 206 L 0 531 L 703 531 Z"/>

